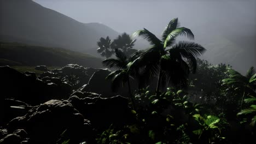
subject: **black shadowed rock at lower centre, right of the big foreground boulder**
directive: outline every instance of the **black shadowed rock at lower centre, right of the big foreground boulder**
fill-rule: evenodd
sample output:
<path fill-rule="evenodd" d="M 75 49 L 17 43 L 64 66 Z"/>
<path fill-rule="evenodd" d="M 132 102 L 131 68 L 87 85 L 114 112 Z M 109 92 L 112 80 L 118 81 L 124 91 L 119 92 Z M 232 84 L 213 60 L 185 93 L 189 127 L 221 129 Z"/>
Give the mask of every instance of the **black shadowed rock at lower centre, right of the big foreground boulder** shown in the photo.
<path fill-rule="evenodd" d="M 124 124 L 133 120 L 128 100 L 120 95 L 111 98 L 83 98 L 72 96 L 68 101 L 97 129 L 110 124 Z"/>

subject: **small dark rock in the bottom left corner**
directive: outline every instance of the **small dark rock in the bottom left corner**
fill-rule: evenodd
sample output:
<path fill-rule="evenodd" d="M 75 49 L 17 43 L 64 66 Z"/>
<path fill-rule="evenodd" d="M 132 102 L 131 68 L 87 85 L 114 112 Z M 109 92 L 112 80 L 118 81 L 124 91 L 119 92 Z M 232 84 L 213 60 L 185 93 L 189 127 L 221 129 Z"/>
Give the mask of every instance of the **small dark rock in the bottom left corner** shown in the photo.
<path fill-rule="evenodd" d="M 0 140 L 2 144 L 18 144 L 25 143 L 27 141 L 27 132 L 24 129 L 18 129 L 13 134 L 8 134 Z"/>

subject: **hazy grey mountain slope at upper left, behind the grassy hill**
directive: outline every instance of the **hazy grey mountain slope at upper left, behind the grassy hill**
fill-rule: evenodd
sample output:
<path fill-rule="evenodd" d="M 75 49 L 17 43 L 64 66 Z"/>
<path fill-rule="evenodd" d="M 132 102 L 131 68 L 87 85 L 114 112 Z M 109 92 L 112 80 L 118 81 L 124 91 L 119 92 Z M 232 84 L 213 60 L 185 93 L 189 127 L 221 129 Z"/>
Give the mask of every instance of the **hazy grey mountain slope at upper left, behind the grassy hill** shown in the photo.
<path fill-rule="evenodd" d="M 100 37 L 118 33 L 100 23 L 81 23 L 31 0 L 0 0 L 0 41 L 89 52 Z"/>

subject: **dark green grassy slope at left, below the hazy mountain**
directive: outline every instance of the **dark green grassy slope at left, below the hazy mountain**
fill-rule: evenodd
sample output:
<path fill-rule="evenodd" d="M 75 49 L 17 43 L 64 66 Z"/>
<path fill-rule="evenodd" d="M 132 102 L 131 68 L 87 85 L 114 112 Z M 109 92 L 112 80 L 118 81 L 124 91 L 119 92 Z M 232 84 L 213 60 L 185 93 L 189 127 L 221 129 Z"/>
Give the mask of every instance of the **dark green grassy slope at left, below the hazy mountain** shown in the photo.
<path fill-rule="evenodd" d="M 102 59 L 94 56 L 61 48 L 0 43 L 0 65 L 62 67 L 73 63 L 84 67 L 101 68 L 101 61 Z"/>

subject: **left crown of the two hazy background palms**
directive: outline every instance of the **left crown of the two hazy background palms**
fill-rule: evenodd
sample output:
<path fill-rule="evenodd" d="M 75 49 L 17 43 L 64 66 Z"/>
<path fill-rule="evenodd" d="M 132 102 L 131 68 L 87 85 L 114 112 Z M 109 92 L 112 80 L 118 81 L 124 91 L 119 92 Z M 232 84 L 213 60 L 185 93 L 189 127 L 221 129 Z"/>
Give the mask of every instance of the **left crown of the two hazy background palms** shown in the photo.
<path fill-rule="evenodd" d="M 98 45 L 98 49 L 97 52 L 101 53 L 102 57 L 106 57 L 109 58 L 112 56 L 112 54 L 114 53 L 113 49 L 112 49 L 112 42 L 109 37 L 107 37 L 106 39 L 104 38 L 100 38 L 100 41 L 97 41 L 97 45 Z"/>

